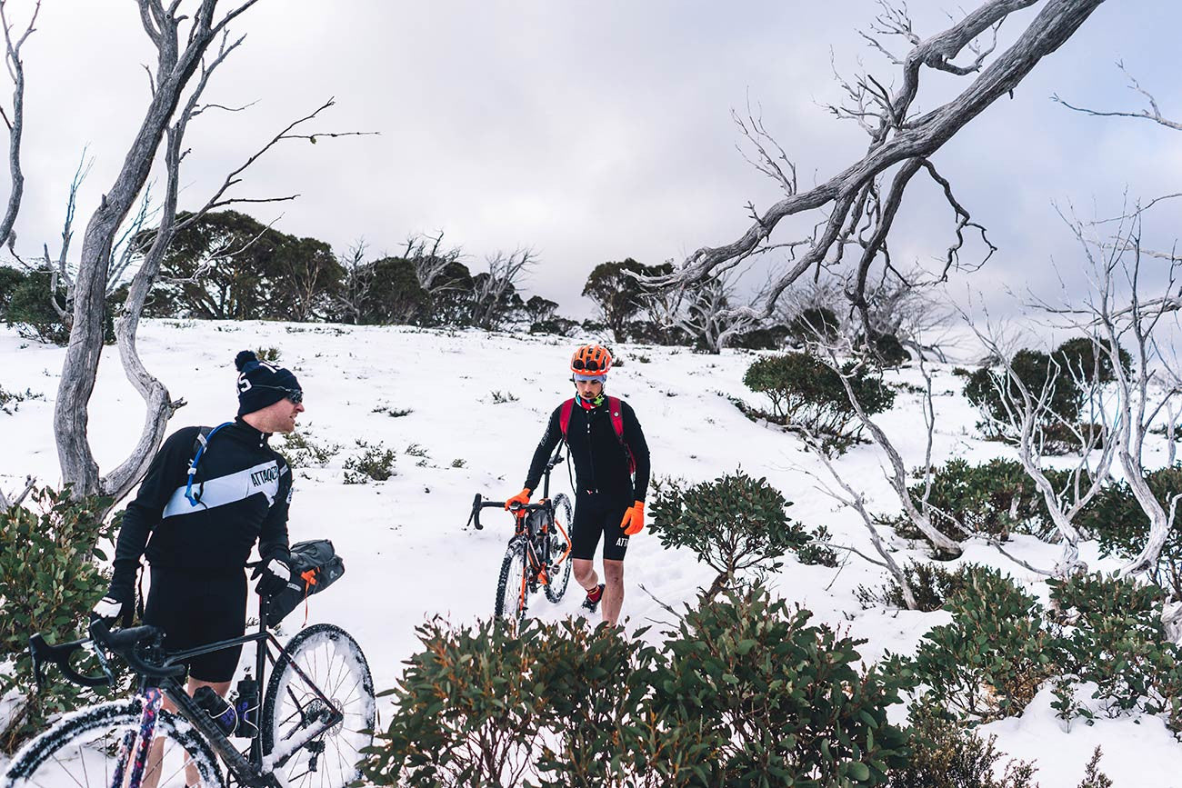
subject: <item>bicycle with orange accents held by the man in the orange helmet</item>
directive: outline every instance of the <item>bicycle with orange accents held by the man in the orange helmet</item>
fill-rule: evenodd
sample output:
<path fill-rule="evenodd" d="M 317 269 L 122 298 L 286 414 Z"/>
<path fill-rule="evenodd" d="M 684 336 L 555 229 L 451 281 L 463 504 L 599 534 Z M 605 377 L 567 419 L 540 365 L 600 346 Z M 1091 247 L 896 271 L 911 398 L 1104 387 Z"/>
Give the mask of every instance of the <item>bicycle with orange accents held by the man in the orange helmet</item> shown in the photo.
<path fill-rule="evenodd" d="M 541 500 L 525 506 L 514 504 L 509 510 L 515 528 L 505 549 L 501 574 L 496 581 L 494 616 L 520 623 L 525 619 L 530 595 L 545 588 L 546 599 L 558 604 L 571 580 L 571 538 L 563 526 L 572 517 L 571 500 L 563 493 L 550 497 L 550 474 L 563 461 L 561 449 L 546 464 Z M 505 501 L 485 501 L 478 493 L 472 502 L 469 523 L 480 525 L 480 510 L 505 508 Z"/>

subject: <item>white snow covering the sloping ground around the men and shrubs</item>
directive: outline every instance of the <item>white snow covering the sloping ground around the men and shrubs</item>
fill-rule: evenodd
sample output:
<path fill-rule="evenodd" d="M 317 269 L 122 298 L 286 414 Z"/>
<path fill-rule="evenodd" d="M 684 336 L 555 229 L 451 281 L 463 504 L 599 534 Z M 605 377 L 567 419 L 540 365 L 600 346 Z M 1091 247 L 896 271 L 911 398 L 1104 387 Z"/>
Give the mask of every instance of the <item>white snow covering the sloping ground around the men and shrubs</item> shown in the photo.
<path fill-rule="evenodd" d="M 485 530 L 465 528 L 472 497 L 504 499 L 521 488 L 545 419 L 570 396 L 566 364 L 573 344 L 554 337 L 277 323 L 147 321 L 139 336 L 148 369 L 174 398 L 189 403 L 173 428 L 233 417 L 233 359 L 240 350 L 275 347 L 280 363 L 299 377 L 307 406 L 300 431 L 342 450 L 325 468 L 298 470 L 292 539 L 331 539 L 348 567 L 339 584 L 311 600 L 309 620 L 349 630 L 365 650 L 378 689 L 397 680 L 402 662 L 416 651 L 414 630 L 424 618 L 470 621 L 492 613 L 511 520 L 486 512 Z M 609 390 L 635 408 L 656 477 L 700 481 L 741 467 L 781 489 L 794 502 L 793 517 L 808 527 L 827 526 L 836 542 L 872 549 L 858 517 L 818 489 L 807 471 L 824 477 L 824 469 L 800 443 L 752 423 L 728 400 L 758 402 L 742 385 L 753 354 L 710 357 L 630 345 L 616 350 L 623 364 L 612 372 Z M 63 357 L 61 349 L 31 345 L 0 328 L 0 386 L 44 395 L 21 403 L 13 415 L 0 412 L 0 488 L 17 488 L 26 474 L 58 481 L 52 412 Z M 889 379 L 922 382 L 908 369 Z M 980 461 L 1004 454 L 1005 447 L 976 436 L 976 411 L 960 395 L 961 383 L 950 365 L 937 366 L 936 457 Z M 918 403 L 917 395 L 901 392 L 895 408 L 877 419 L 911 464 L 923 456 Z M 401 417 L 388 412 L 405 409 L 411 412 Z M 102 468 L 111 468 L 134 447 L 142 412 L 115 349 L 108 349 L 90 424 Z M 344 484 L 342 467 L 357 452 L 358 439 L 395 449 L 397 475 L 384 483 Z M 1154 447 L 1158 449 L 1162 454 L 1151 456 L 1150 464 L 1164 462 L 1164 447 Z M 855 447 L 837 465 L 863 486 L 875 510 L 898 509 L 873 447 Z M 567 490 L 565 469 L 553 481 L 552 491 Z M 897 547 L 902 562 L 908 548 L 902 542 Z M 1018 538 L 1011 549 L 1041 566 L 1052 565 L 1059 552 L 1028 538 Z M 1115 568 L 1098 560 L 1095 545 L 1084 546 L 1083 558 L 1092 567 Z M 987 546 L 969 546 L 962 560 L 1002 567 L 1045 594 L 1037 578 Z M 665 551 L 645 534 L 632 540 L 625 566 L 624 616 L 637 626 L 669 620 L 655 599 L 680 607 L 713 579 L 691 553 Z M 870 660 L 884 651 L 911 652 L 928 629 L 949 620 L 943 612 L 862 610 L 857 587 L 884 579 L 878 567 L 857 558 L 839 569 L 790 560 L 773 585 L 812 610 L 817 620 L 866 638 L 862 655 Z M 571 616 L 579 598 L 572 584 L 560 605 L 539 595 L 531 613 Z M 293 614 L 285 626 L 294 631 L 300 623 Z M 662 629 L 654 627 L 650 637 Z M 1104 748 L 1102 768 L 1117 788 L 1182 786 L 1182 744 L 1156 718 L 1104 719 L 1095 727 L 1077 721 L 1065 731 L 1045 690 L 1021 717 L 983 730 L 998 736 L 1004 751 L 1038 761 L 1043 788 L 1074 788 L 1097 744 Z"/>

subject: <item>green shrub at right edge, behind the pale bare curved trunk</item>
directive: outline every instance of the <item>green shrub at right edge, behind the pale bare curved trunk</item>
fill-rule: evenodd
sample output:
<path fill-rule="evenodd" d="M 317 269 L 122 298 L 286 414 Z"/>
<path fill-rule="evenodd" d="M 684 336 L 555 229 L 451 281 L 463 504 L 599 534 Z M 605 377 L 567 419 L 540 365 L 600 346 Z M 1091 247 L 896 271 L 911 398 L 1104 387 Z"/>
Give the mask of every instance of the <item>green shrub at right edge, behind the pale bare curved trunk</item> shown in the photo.
<path fill-rule="evenodd" d="M 1145 482 L 1169 513 L 1170 499 L 1182 493 L 1182 464 L 1150 471 L 1145 474 Z M 1149 536 L 1149 517 L 1137 503 L 1132 489 L 1123 481 L 1102 489 L 1080 513 L 1076 525 L 1096 536 L 1103 556 L 1132 559 Z M 1157 566 L 1149 577 L 1157 585 L 1169 588 L 1175 598 L 1182 598 L 1182 517 L 1175 519 Z"/>

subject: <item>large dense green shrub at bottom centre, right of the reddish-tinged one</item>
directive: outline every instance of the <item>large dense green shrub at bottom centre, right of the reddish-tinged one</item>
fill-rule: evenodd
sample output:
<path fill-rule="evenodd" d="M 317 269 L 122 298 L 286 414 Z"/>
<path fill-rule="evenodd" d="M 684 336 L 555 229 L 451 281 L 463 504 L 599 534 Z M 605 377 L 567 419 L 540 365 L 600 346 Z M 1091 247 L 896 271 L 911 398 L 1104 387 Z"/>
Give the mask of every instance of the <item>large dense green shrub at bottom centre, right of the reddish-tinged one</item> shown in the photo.
<path fill-rule="evenodd" d="M 898 663 L 859 672 L 864 640 L 810 626 L 760 586 L 689 612 L 650 684 L 654 714 L 712 742 L 702 786 L 878 786 L 907 758 L 886 708 Z"/>

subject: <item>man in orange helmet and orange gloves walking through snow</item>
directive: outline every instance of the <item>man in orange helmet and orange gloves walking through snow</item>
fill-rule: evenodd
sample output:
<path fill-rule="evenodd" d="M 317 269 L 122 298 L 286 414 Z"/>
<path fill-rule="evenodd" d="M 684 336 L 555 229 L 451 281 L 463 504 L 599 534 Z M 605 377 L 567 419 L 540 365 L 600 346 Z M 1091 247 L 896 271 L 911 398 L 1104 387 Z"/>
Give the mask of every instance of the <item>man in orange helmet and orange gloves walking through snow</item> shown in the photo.
<path fill-rule="evenodd" d="M 604 395 L 611 353 L 583 345 L 571 357 L 576 395 L 554 409 L 530 463 L 525 489 L 505 502 L 528 503 L 546 461 L 565 441 L 574 463 L 574 522 L 571 558 L 574 580 L 587 592 L 584 610 L 603 603 L 603 620 L 616 624 L 624 603 L 624 553 L 629 538 L 644 527 L 644 495 L 649 488 L 649 447 L 628 403 Z M 634 481 L 635 475 L 635 481 Z M 603 543 L 603 579 L 595 553 Z"/>

